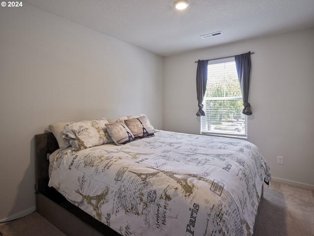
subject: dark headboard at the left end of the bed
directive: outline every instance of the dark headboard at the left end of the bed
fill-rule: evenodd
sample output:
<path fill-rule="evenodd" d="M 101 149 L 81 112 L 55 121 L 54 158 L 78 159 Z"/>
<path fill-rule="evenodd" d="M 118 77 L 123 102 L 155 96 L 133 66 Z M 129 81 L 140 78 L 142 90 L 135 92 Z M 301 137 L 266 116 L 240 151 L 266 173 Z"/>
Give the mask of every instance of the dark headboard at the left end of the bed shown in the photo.
<path fill-rule="evenodd" d="M 35 135 L 35 187 L 39 193 L 46 193 L 49 188 L 49 160 L 47 160 L 47 154 L 58 148 L 58 142 L 52 133 Z"/>

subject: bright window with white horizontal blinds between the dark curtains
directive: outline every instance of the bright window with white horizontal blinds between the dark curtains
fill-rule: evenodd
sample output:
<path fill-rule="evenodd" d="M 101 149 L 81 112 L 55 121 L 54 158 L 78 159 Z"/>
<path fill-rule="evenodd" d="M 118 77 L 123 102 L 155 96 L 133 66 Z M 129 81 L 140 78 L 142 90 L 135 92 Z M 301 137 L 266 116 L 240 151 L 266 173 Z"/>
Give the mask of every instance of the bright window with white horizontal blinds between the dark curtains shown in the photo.
<path fill-rule="evenodd" d="M 209 61 L 201 133 L 247 138 L 247 116 L 235 59 Z"/>

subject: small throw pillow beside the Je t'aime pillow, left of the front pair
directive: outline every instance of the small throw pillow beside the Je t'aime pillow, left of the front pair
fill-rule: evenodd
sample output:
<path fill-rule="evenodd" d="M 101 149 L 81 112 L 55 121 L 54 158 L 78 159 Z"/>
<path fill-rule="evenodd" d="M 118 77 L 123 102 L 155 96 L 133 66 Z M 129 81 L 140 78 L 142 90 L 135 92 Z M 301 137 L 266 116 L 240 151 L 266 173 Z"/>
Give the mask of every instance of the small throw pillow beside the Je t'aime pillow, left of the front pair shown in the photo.
<path fill-rule="evenodd" d="M 128 126 L 122 122 L 106 124 L 107 132 L 116 145 L 127 144 L 135 138 Z"/>

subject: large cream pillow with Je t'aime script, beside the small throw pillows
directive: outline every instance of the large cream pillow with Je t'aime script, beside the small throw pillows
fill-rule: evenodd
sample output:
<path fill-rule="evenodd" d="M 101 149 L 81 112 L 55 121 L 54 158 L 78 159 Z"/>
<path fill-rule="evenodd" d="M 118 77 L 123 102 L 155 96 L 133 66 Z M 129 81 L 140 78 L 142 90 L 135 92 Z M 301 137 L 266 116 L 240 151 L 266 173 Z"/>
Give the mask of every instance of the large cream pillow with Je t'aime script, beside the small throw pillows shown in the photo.
<path fill-rule="evenodd" d="M 105 134 L 105 119 L 82 120 L 64 126 L 63 138 L 66 138 L 75 153 L 79 150 L 109 143 Z"/>

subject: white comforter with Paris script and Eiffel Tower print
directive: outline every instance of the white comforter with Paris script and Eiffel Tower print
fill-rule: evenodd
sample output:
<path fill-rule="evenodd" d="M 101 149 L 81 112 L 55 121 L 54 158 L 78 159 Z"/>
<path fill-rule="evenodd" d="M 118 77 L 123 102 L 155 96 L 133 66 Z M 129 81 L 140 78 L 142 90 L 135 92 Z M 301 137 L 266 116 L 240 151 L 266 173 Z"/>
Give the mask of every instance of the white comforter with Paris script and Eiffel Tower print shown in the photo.
<path fill-rule="evenodd" d="M 57 151 L 49 186 L 122 236 L 247 236 L 263 181 L 242 140 L 159 131 L 117 146 Z"/>

